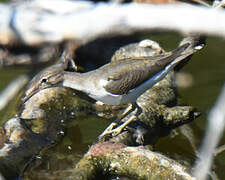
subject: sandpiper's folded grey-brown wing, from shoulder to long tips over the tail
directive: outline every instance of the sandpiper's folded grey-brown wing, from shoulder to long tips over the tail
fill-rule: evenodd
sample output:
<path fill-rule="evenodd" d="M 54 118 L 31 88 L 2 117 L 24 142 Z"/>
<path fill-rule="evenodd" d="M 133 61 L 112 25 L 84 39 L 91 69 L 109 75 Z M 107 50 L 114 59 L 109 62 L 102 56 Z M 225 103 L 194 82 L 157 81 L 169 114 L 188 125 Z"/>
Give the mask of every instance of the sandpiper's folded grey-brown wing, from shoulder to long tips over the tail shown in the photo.
<path fill-rule="evenodd" d="M 155 58 L 151 57 L 150 60 L 126 59 L 123 60 L 123 63 L 121 61 L 111 63 L 111 70 L 107 72 L 107 76 L 104 78 L 107 80 L 104 86 L 105 90 L 118 95 L 128 93 L 159 73 L 166 65 L 173 61 L 176 61 L 174 62 L 176 65 L 195 52 L 194 50 L 185 52 L 187 47 L 188 45 L 183 45 L 171 53 Z"/>

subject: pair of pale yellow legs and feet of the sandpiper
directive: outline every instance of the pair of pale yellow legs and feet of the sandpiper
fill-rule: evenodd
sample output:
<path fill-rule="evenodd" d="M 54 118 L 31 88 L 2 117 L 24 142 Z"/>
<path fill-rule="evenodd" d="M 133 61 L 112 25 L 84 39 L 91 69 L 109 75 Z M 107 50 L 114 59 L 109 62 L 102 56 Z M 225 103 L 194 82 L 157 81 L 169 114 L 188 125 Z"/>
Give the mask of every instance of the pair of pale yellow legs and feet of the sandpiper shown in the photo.
<path fill-rule="evenodd" d="M 118 122 L 123 119 L 126 115 L 128 115 L 129 113 L 131 113 L 132 111 L 134 111 L 135 109 L 135 113 L 134 115 L 132 115 L 128 120 L 126 120 L 122 125 L 120 125 L 119 127 L 113 129 L 115 126 L 118 125 Z M 112 136 L 116 136 L 118 135 L 131 121 L 133 121 L 134 119 L 137 118 L 137 116 L 141 113 L 141 108 L 137 105 L 137 103 L 133 103 L 130 104 L 125 111 L 123 112 L 122 116 L 120 118 L 117 118 L 115 121 L 113 121 L 106 129 L 105 131 L 99 136 L 99 139 L 101 139 L 102 137 L 106 136 L 106 135 L 112 135 Z"/>

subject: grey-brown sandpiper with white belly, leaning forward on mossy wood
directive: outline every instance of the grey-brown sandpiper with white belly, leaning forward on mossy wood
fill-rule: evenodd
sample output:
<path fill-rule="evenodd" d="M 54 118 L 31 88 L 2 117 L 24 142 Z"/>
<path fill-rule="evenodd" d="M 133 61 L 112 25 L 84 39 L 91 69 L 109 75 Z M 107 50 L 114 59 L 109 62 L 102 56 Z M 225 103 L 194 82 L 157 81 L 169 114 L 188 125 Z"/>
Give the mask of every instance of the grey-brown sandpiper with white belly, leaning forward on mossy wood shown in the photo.
<path fill-rule="evenodd" d="M 147 44 L 146 44 L 147 43 Z M 112 61 L 99 69 L 86 73 L 68 72 L 68 68 L 76 69 L 73 60 L 62 56 L 62 63 L 53 65 L 33 78 L 25 92 L 25 102 L 41 89 L 52 86 L 64 86 L 86 93 L 91 98 L 109 105 L 131 103 L 124 116 L 136 107 L 136 114 L 116 129 L 112 123 L 100 136 L 116 135 L 134 120 L 141 109 L 136 104 L 137 98 L 157 82 L 162 80 L 176 65 L 195 53 L 198 48 L 193 44 L 182 43 L 171 52 L 163 52 L 154 41 L 142 41 L 140 46 L 151 46 L 153 51 L 146 57 L 127 57 Z M 155 50 L 154 50 L 155 49 Z M 152 54 L 153 53 L 153 54 Z M 64 71 L 65 70 L 65 71 Z"/>

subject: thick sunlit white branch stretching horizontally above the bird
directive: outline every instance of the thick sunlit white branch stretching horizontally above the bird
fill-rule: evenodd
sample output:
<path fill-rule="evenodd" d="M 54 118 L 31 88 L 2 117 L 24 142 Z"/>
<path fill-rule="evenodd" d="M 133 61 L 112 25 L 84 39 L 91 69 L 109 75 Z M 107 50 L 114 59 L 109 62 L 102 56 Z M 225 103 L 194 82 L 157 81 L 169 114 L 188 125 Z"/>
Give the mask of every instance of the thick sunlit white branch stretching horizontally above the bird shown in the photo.
<path fill-rule="evenodd" d="M 130 35 L 152 30 L 204 33 L 225 37 L 225 12 L 187 4 L 107 4 L 36 0 L 0 5 L 0 43 L 27 45 L 74 39 Z"/>

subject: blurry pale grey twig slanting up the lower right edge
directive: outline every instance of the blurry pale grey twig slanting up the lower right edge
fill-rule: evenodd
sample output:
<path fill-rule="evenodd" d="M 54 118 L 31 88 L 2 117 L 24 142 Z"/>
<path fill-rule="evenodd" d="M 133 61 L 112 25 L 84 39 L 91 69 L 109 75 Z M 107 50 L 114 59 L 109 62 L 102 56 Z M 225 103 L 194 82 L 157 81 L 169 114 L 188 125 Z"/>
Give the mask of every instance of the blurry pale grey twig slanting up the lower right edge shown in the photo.
<path fill-rule="evenodd" d="M 208 115 L 208 127 L 201 146 L 199 160 L 194 166 L 194 176 L 198 180 L 205 180 L 212 165 L 214 151 L 222 136 L 225 125 L 225 85 L 216 104 Z"/>

